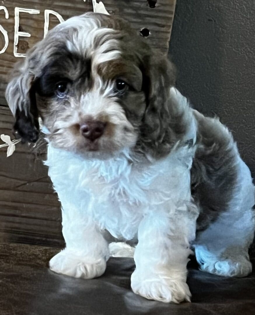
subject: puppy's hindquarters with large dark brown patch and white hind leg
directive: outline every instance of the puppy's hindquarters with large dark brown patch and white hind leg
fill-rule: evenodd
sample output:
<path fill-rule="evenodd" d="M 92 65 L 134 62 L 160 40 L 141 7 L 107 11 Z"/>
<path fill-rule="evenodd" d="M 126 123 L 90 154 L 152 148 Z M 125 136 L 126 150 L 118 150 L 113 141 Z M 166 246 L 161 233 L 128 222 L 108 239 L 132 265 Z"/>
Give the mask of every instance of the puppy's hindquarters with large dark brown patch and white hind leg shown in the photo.
<path fill-rule="evenodd" d="M 200 205 L 195 253 L 200 269 L 222 276 L 251 272 L 254 186 L 231 133 L 218 119 L 194 111 L 198 146 L 191 178 Z M 195 185 L 194 185 L 195 184 Z"/>

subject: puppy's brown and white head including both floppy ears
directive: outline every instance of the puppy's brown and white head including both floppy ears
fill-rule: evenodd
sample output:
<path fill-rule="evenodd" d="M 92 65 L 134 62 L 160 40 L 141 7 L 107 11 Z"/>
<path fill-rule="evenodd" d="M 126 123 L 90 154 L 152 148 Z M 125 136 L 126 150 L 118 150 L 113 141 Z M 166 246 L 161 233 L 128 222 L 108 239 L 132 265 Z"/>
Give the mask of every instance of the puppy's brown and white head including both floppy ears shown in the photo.
<path fill-rule="evenodd" d="M 123 20 L 86 13 L 56 26 L 27 54 L 6 98 L 23 141 L 38 117 L 53 146 L 81 154 L 165 152 L 175 141 L 173 67 Z"/>

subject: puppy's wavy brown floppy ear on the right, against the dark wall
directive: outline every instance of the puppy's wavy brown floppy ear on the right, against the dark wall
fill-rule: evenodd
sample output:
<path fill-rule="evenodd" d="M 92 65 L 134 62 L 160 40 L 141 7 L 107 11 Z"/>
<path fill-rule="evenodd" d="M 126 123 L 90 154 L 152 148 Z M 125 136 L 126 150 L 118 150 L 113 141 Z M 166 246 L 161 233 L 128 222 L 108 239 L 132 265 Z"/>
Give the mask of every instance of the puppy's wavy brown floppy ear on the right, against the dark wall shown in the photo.
<path fill-rule="evenodd" d="M 143 90 L 146 110 L 141 128 L 141 139 L 147 150 L 164 155 L 176 142 L 173 126 L 176 111 L 171 102 L 171 87 L 175 84 L 175 67 L 165 57 L 148 56 L 144 62 Z"/>

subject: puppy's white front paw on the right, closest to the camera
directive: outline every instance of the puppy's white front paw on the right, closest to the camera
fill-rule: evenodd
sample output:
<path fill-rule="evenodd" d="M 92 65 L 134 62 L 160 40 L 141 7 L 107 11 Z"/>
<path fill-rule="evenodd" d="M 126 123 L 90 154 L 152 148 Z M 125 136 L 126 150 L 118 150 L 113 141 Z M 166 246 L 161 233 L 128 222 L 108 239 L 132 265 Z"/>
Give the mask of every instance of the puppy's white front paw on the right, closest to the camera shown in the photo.
<path fill-rule="evenodd" d="M 134 293 L 146 299 L 161 302 L 180 303 L 190 302 L 190 291 L 188 284 L 184 281 L 173 280 L 168 276 L 153 274 L 145 277 L 140 275 L 137 270 L 131 275 L 131 288 Z"/>

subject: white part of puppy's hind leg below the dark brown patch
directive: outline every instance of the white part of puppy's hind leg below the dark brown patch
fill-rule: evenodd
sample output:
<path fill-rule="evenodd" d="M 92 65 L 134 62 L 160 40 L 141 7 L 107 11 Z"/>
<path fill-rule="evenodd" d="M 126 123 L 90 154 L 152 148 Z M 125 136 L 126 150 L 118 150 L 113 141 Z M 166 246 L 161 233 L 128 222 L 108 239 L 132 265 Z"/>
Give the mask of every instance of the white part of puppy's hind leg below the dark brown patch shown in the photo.
<path fill-rule="evenodd" d="M 254 237 L 254 186 L 241 162 L 242 178 L 225 212 L 197 233 L 196 259 L 200 269 L 219 276 L 245 277 L 252 271 L 248 249 Z"/>

